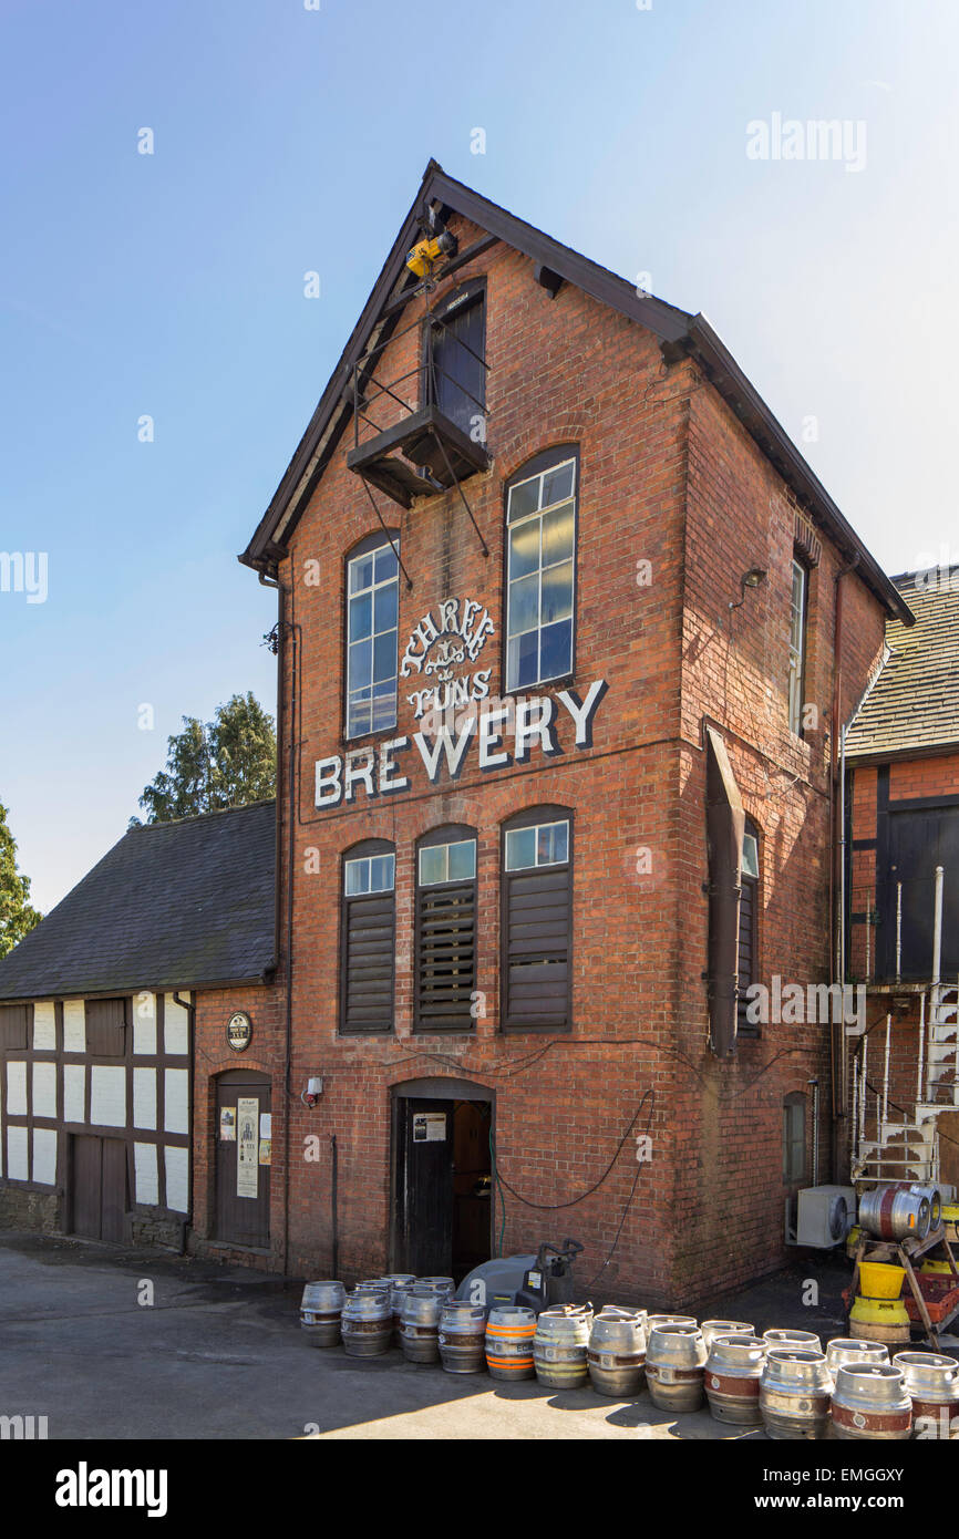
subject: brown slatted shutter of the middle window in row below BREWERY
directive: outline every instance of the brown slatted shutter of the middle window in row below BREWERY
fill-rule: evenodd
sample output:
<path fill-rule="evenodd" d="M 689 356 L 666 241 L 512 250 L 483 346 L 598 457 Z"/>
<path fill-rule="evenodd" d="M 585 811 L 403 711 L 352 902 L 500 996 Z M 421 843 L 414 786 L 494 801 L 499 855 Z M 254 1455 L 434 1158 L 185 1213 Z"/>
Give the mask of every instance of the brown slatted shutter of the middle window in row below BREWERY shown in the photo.
<path fill-rule="evenodd" d="M 473 1031 L 474 988 L 476 880 L 417 886 L 417 1030 Z"/>

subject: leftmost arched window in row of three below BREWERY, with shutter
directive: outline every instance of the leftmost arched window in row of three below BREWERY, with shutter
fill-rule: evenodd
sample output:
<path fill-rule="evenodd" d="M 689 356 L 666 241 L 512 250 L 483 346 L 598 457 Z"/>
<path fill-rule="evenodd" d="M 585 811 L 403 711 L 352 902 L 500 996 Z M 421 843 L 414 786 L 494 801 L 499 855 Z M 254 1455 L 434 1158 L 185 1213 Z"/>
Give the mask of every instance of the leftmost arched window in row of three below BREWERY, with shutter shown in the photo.
<path fill-rule="evenodd" d="M 396 854 L 366 839 L 343 854 L 340 1031 L 393 1031 Z"/>

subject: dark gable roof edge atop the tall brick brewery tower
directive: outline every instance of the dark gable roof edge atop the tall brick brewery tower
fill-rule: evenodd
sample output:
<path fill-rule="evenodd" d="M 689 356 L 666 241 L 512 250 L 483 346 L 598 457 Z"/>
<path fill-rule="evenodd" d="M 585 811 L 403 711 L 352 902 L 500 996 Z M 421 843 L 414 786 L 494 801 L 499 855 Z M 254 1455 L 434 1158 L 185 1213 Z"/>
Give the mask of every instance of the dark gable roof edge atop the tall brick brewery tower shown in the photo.
<path fill-rule="evenodd" d="M 810 469 L 705 315 L 691 315 L 653 295 L 637 294 L 631 283 L 610 272 L 608 268 L 580 255 L 571 246 L 563 246 L 559 240 L 543 234 L 542 229 L 536 229 L 534 225 L 510 214 L 499 203 L 490 202 L 465 183 L 448 177 L 436 160 L 431 160 L 423 172 L 416 200 L 340 354 L 340 362 L 329 377 L 306 432 L 300 439 L 249 545 L 239 557 L 246 566 L 276 576 L 276 566 L 285 554 L 286 540 L 306 508 L 353 414 L 348 389 L 353 368 L 369 345 L 388 339 L 402 314 L 403 295 L 413 294 L 417 286 L 406 268 L 406 254 L 420 232 L 420 220 L 429 205 L 440 205 L 443 217 L 451 212 L 462 214 L 488 232 L 483 242 L 477 242 L 468 252 L 460 252 L 457 263 L 462 265 L 463 257 L 479 255 L 480 248 L 486 249 L 488 245 L 502 240 L 566 279 L 593 299 L 610 305 L 654 332 L 660 340 L 667 362 L 674 362 L 682 356 L 693 357 L 776 471 L 793 488 L 800 505 L 822 525 L 840 554 L 847 560 L 856 557 L 860 577 L 887 611 L 897 616 L 905 625 L 911 625 L 913 616 L 902 594 L 844 519 L 819 477 Z"/>

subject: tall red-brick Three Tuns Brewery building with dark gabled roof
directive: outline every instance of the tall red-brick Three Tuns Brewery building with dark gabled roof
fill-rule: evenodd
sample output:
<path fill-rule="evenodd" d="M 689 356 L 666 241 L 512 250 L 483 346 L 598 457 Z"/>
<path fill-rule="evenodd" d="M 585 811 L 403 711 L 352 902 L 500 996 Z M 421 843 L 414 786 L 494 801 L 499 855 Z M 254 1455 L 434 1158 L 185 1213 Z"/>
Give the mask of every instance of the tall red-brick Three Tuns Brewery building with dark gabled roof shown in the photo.
<path fill-rule="evenodd" d="M 159 980 L 186 1244 L 353 1280 L 571 1234 L 673 1305 L 779 1267 L 845 1174 L 839 1028 L 737 985 L 837 976 L 839 728 L 911 614 L 703 317 L 431 163 L 242 560 L 276 982 Z"/>

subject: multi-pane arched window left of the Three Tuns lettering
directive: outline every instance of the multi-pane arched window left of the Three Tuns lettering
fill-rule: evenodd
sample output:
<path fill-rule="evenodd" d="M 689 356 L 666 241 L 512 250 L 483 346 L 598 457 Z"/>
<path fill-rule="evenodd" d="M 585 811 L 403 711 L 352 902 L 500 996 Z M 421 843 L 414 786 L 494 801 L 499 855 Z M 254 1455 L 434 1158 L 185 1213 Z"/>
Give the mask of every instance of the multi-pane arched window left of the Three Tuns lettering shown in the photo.
<path fill-rule="evenodd" d="M 371 534 L 346 557 L 346 737 L 396 726 L 399 540 Z"/>

